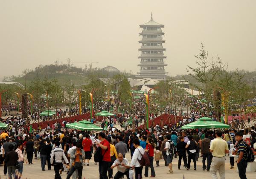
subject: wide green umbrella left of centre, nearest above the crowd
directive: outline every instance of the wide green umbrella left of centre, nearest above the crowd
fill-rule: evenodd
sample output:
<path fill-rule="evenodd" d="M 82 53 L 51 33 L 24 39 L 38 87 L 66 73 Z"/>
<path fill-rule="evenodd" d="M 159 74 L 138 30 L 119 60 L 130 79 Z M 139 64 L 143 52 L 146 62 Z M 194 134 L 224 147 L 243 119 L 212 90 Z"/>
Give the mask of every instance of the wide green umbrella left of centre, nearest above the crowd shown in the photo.
<path fill-rule="evenodd" d="M 87 120 L 66 124 L 66 126 L 67 128 L 78 129 L 81 131 L 102 131 L 103 130 L 99 126 L 94 125 Z"/>

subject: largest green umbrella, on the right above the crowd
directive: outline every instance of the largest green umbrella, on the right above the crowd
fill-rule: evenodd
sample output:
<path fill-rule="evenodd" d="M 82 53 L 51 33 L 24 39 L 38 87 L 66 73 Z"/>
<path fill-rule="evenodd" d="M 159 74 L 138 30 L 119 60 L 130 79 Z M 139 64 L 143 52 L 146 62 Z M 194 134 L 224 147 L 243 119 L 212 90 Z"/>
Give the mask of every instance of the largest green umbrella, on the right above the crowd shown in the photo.
<path fill-rule="evenodd" d="M 201 128 L 230 128 L 229 125 L 214 121 L 208 117 L 202 117 L 195 122 L 191 122 L 181 127 L 181 129 L 201 129 Z"/>

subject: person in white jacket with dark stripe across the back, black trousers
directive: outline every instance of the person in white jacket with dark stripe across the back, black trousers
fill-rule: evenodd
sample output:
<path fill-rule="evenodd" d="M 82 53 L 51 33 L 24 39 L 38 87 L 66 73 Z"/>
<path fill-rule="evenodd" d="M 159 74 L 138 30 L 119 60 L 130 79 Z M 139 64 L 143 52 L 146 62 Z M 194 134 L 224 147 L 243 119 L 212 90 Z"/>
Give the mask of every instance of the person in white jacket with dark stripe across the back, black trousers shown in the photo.
<path fill-rule="evenodd" d="M 60 146 L 60 141 L 56 140 L 54 142 L 55 148 L 52 149 L 52 154 L 51 154 L 51 164 L 53 165 L 54 171 L 55 171 L 55 177 L 54 179 L 61 179 L 60 175 L 60 169 L 62 167 L 62 158 L 65 160 L 66 164 L 68 165 L 69 162 L 67 160 L 67 157 L 65 156 L 65 153 L 63 149 L 61 149 Z"/>

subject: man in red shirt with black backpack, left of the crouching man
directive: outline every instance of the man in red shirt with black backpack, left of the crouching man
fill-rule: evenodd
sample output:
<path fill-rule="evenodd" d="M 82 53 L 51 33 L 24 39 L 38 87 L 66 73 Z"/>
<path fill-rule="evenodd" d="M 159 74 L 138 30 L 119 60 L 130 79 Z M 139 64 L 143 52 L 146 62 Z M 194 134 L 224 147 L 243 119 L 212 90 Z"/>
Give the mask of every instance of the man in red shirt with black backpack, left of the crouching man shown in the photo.
<path fill-rule="evenodd" d="M 98 152 L 96 151 L 94 154 L 94 162 L 96 155 L 97 158 L 101 158 L 99 160 L 99 178 L 100 179 L 108 179 L 107 172 L 108 172 L 108 166 L 111 162 L 111 157 L 110 157 L 110 144 L 108 140 L 105 139 L 106 135 L 104 132 L 99 133 L 99 140 L 101 142 L 95 142 L 96 145 L 99 145 L 97 148 Z"/>

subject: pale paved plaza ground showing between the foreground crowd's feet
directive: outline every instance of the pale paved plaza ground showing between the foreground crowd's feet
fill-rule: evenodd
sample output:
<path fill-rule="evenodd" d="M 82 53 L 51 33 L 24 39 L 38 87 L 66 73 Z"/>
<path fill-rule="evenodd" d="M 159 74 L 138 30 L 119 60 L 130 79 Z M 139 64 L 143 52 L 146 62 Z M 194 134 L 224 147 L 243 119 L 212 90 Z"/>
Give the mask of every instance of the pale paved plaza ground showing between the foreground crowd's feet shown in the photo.
<path fill-rule="evenodd" d="M 126 154 L 126 157 L 129 161 L 131 161 L 130 153 Z M 177 169 L 177 158 L 173 160 L 173 174 L 167 174 L 169 170 L 168 167 L 164 166 L 164 160 L 160 160 L 160 167 L 154 167 L 156 172 L 156 179 L 164 179 L 164 178 L 172 178 L 172 179 L 183 179 L 183 175 L 185 179 L 195 179 L 196 177 L 200 177 L 200 179 L 211 179 L 210 172 L 207 170 L 202 170 L 202 157 L 200 157 L 197 161 L 197 170 L 193 169 L 193 163 L 191 163 L 191 169 L 186 170 L 185 167 L 181 166 L 181 169 Z M 183 165 L 183 162 L 181 163 Z M 155 166 L 155 162 L 154 162 Z M 230 169 L 229 157 L 226 157 L 226 179 L 239 179 L 238 172 L 236 170 L 236 164 L 234 169 Z M 116 168 L 113 169 L 113 176 L 116 173 Z M 148 175 L 150 176 L 150 169 Z M 1 179 L 6 179 L 8 176 L 3 175 L 3 167 L 0 167 L 0 176 Z M 144 169 L 143 169 L 144 176 Z M 255 179 L 256 172 L 254 173 L 246 173 L 247 179 Z M 63 172 L 61 174 L 62 179 L 66 179 L 67 172 Z M 23 168 L 23 179 L 54 179 L 54 170 L 41 170 L 41 161 L 33 159 L 33 165 L 24 164 Z M 72 178 L 72 177 L 71 177 Z M 99 179 L 99 171 L 98 165 L 94 165 L 93 160 L 90 161 L 90 166 L 84 166 L 82 179 Z M 126 179 L 126 177 L 125 177 Z M 145 177 L 144 177 L 145 179 Z"/>

